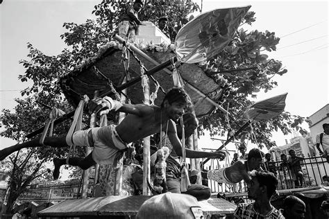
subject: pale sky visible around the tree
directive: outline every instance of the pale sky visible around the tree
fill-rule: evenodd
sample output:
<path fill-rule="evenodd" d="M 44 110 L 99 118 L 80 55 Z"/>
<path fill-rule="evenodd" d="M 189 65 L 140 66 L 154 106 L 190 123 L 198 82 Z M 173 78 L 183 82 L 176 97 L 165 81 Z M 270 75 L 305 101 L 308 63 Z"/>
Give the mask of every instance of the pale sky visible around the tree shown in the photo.
<path fill-rule="evenodd" d="M 3 0 L 0 5 L 0 109 L 12 109 L 13 98 L 31 85 L 20 82 L 24 73 L 19 60 L 26 60 L 27 43 L 47 55 L 58 55 L 66 45 L 60 39 L 65 33 L 62 24 L 82 24 L 94 19 L 92 10 L 101 1 L 94 0 Z M 201 4 L 201 0 L 196 1 Z M 248 30 L 269 30 L 280 37 L 278 50 L 269 58 L 281 60 L 288 70 L 275 76 L 278 87 L 258 93 L 262 100 L 288 92 L 285 110 L 300 116 L 310 116 L 329 101 L 328 98 L 328 2 L 327 1 L 203 1 L 203 12 L 214 8 L 251 5 L 256 21 Z M 36 127 L 37 128 L 37 127 Z M 307 128 L 307 125 L 305 125 Z M 280 132 L 273 133 L 278 146 L 285 144 Z M 0 149 L 15 143 L 0 138 Z M 218 148 L 208 134 L 201 137 L 199 147 Z M 233 146 L 229 149 L 235 150 Z"/>

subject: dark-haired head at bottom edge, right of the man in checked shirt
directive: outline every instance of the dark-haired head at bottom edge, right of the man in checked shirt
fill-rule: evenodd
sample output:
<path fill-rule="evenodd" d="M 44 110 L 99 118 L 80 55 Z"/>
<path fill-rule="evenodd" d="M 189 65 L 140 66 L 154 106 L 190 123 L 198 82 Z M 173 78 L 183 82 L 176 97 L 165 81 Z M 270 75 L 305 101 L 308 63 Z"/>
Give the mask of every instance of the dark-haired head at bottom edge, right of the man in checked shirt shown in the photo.
<path fill-rule="evenodd" d="M 283 213 L 285 219 L 304 219 L 306 206 L 303 200 L 294 195 L 288 195 L 283 201 Z"/>

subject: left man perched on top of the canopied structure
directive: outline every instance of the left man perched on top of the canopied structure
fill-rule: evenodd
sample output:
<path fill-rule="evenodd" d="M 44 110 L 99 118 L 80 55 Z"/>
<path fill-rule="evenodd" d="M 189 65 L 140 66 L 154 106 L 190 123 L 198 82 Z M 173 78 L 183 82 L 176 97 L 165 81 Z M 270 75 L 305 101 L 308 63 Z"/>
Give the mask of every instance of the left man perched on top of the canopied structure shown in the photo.
<path fill-rule="evenodd" d="M 134 39 L 138 25 L 142 25 L 142 22 L 138 19 L 138 12 L 142 10 L 143 2 L 136 0 L 133 6 L 127 5 L 126 12 L 118 24 L 119 36 L 127 39 Z"/>

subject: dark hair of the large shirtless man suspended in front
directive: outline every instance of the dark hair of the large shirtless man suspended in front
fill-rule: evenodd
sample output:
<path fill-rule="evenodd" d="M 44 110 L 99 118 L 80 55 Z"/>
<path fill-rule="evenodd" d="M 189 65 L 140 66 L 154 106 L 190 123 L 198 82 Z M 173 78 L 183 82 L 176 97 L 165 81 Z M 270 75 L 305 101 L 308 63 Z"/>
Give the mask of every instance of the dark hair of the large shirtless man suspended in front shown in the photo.
<path fill-rule="evenodd" d="M 186 91 L 183 89 L 183 87 L 174 87 L 172 88 L 163 98 L 161 107 L 163 107 L 163 103 L 165 103 L 165 100 L 168 100 L 168 103 L 171 105 L 172 103 L 187 103 L 187 108 L 191 109 L 192 107 L 192 101 L 191 98 L 189 98 L 189 95 L 186 93 Z"/>

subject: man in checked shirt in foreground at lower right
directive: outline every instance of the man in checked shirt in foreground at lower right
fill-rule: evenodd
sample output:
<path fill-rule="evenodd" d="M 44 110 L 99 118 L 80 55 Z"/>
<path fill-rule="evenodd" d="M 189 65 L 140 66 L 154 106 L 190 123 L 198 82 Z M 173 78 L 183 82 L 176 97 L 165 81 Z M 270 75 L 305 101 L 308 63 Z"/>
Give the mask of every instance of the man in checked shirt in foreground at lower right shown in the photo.
<path fill-rule="evenodd" d="M 250 155 L 250 153 L 249 153 Z M 235 218 L 284 218 L 280 211 L 270 203 L 272 195 L 276 192 L 278 179 L 268 171 L 251 171 L 251 180 L 247 184 L 248 198 L 255 202 L 241 203 L 235 209 Z"/>

